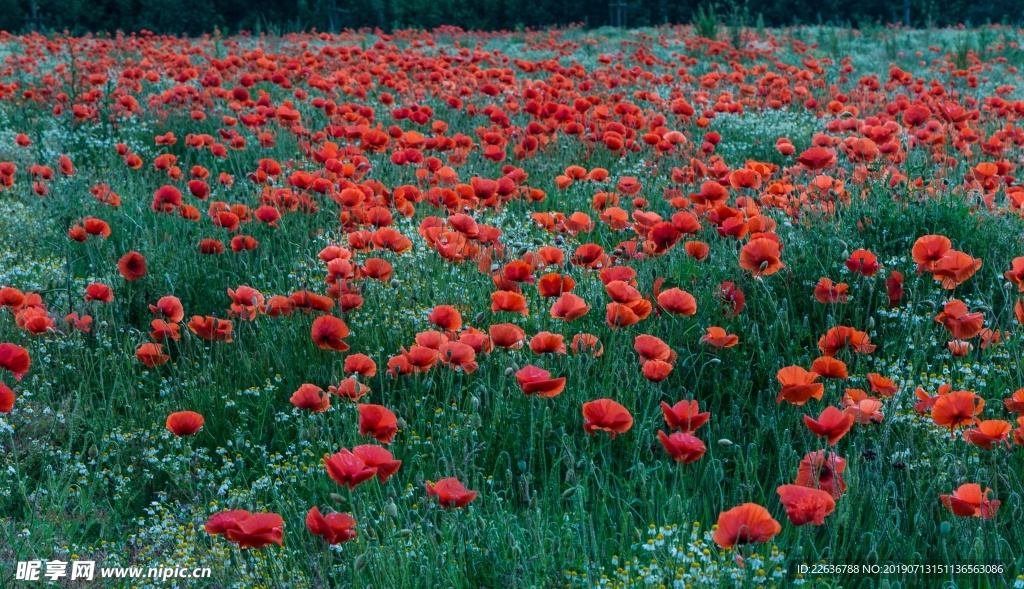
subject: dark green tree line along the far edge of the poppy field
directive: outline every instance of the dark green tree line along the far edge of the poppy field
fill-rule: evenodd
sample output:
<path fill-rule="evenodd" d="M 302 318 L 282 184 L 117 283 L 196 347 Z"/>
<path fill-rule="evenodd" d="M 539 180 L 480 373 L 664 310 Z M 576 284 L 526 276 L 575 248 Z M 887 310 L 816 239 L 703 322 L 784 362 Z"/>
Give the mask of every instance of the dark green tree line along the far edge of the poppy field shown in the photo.
<path fill-rule="evenodd" d="M 625 16 L 630 27 L 690 23 L 701 9 L 715 13 L 715 4 L 720 16 L 728 13 L 728 3 L 708 0 L 633 0 L 627 2 Z M 847 22 L 866 26 L 902 20 L 904 6 L 882 0 L 769 0 L 759 2 L 756 11 L 768 26 Z M 910 0 L 909 8 L 910 25 L 916 27 L 1024 19 L 1024 7 L 1017 0 Z M 606 0 L 0 0 L 0 30 L 9 32 L 144 30 L 198 35 L 215 29 L 286 33 L 442 25 L 497 31 L 572 24 L 601 27 L 609 24 L 609 17 Z"/>

